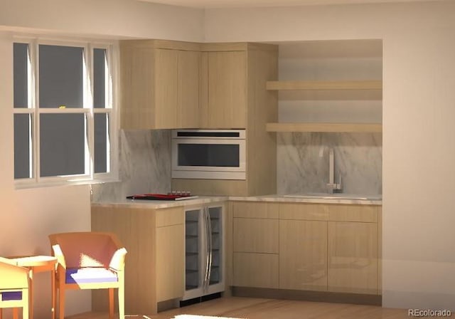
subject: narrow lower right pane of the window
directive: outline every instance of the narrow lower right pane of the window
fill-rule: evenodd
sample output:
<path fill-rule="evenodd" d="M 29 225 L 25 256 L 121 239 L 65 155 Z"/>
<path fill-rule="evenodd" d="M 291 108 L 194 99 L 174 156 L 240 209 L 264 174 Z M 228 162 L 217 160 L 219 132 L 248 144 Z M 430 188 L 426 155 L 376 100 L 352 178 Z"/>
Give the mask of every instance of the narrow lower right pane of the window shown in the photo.
<path fill-rule="evenodd" d="M 95 114 L 95 173 L 109 172 L 109 115 Z"/>

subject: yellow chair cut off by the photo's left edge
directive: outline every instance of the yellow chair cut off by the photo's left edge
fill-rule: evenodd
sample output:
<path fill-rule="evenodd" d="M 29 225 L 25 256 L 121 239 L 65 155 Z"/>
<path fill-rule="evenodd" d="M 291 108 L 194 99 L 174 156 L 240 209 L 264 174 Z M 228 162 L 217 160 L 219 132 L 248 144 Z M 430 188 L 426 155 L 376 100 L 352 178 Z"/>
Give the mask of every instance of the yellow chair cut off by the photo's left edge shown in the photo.
<path fill-rule="evenodd" d="M 14 308 L 14 319 L 18 319 L 18 308 L 22 308 L 22 318 L 28 319 L 29 283 L 28 268 L 17 266 L 14 261 L 0 257 L 0 319 L 2 308 Z"/>

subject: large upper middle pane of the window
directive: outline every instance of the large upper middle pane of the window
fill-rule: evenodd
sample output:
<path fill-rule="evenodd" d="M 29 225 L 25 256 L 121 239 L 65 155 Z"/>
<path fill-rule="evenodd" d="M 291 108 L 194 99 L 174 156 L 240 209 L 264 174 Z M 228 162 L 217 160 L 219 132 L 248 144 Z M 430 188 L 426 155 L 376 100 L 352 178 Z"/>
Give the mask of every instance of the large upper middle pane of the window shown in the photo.
<path fill-rule="evenodd" d="M 40 108 L 83 107 L 83 52 L 73 46 L 39 46 Z"/>

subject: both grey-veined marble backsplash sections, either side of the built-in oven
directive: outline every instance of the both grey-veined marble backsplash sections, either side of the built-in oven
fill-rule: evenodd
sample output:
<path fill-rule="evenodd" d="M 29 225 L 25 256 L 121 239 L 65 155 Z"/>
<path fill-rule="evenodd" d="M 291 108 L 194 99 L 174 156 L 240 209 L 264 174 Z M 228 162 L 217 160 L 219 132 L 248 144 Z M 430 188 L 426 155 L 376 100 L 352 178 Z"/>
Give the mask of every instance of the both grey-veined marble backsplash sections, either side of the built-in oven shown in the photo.
<path fill-rule="evenodd" d="M 328 149 L 343 193 L 382 194 L 382 135 L 375 133 L 277 133 L 277 192 L 326 192 Z M 320 156 L 322 155 L 322 156 Z M 94 202 L 130 194 L 171 191 L 171 130 L 121 130 L 119 180 L 94 184 Z"/>

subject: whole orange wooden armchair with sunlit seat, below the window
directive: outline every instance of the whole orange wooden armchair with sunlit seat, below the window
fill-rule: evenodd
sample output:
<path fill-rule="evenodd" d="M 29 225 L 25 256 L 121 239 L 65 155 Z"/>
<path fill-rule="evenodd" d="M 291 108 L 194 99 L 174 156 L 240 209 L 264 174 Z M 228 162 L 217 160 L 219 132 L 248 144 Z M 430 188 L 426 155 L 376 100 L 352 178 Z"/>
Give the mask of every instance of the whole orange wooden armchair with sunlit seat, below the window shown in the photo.
<path fill-rule="evenodd" d="M 109 318 L 114 318 L 114 288 L 118 289 L 119 319 L 124 319 L 124 259 L 127 250 L 111 233 L 75 232 L 49 235 L 58 291 L 58 317 L 65 318 L 66 289 L 108 289 Z M 0 318 L 1 319 L 1 318 Z"/>

